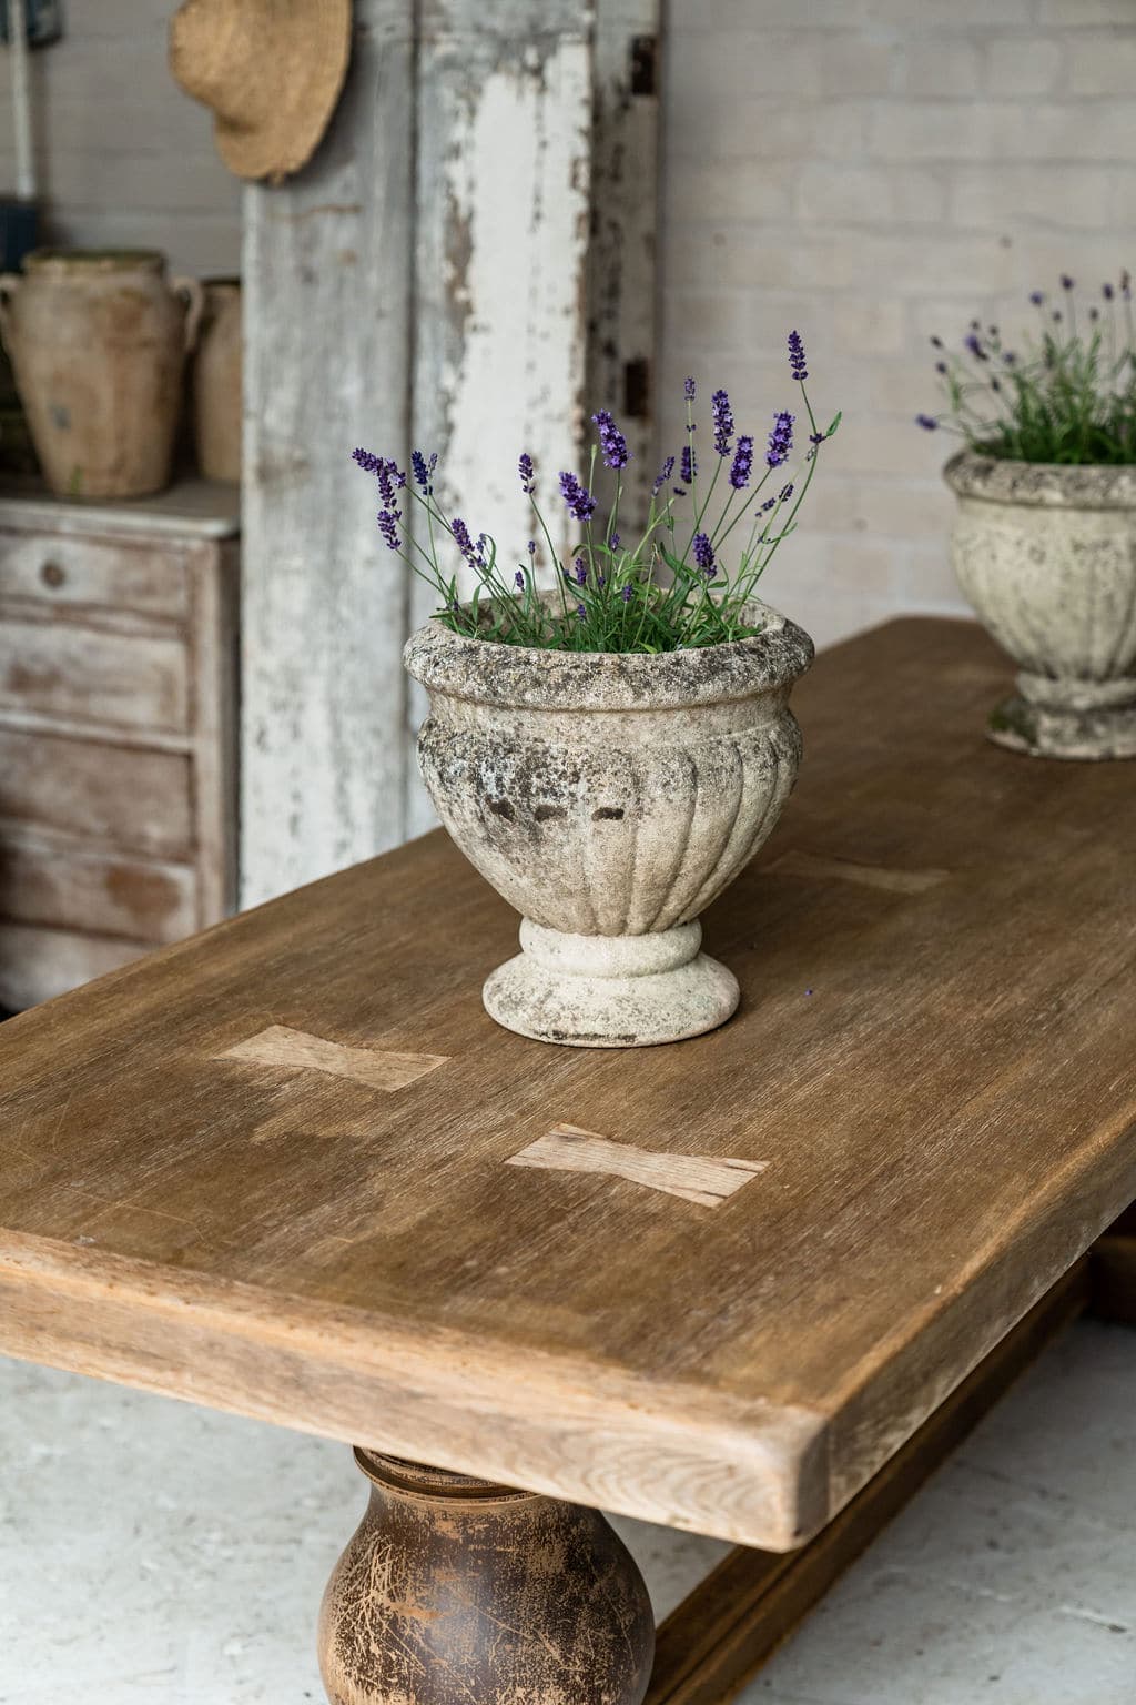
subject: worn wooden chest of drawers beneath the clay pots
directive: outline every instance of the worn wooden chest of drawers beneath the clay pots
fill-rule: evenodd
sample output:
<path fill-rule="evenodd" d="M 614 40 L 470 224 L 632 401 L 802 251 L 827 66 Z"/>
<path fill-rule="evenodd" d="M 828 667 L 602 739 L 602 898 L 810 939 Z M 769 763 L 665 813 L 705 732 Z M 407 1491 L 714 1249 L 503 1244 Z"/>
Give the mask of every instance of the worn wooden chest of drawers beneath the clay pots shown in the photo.
<path fill-rule="evenodd" d="M 0 1006 L 233 907 L 238 500 L 0 491 Z"/>

